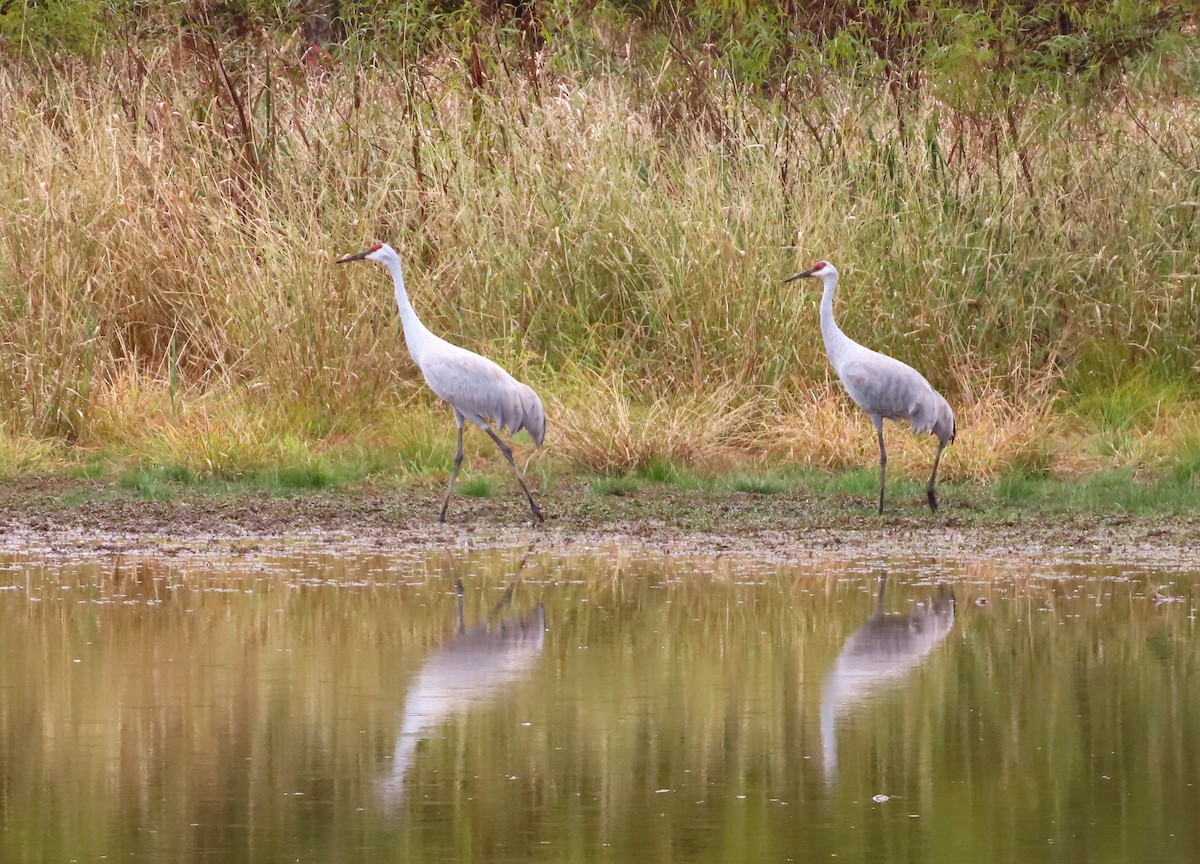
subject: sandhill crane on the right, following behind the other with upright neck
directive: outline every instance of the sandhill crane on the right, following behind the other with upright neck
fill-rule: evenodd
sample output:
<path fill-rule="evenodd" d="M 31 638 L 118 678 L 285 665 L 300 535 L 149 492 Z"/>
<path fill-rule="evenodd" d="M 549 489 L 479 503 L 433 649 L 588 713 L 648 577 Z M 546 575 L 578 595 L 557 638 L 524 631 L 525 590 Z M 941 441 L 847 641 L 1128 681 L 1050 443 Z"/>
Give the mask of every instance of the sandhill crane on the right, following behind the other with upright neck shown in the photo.
<path fill-rule="evenodd" d="M 883 419 L 907 420 L 917 433 L 937 436 L 937 455 L 929 475 L 925 497 L 929 509 L 937 511 L 937 463 L 942 450 L 954 440 L 954 412 L 925 377 L 905 362 L 858 344 L 841 331 L 833 319 L 833 295 L 838 289 L 838 270 L 829 262 L 817 262 L 808 270 L 788 276 L 785 282 L 815 276 L 824 284 L 821 295 L 821 336 L 826 355 L 841 379 L 846 392 L 875 424 L 880 439 L 880 514 L 883 512 L 883 479 L 887 473 L 888 451 L 883 446 Z"/>

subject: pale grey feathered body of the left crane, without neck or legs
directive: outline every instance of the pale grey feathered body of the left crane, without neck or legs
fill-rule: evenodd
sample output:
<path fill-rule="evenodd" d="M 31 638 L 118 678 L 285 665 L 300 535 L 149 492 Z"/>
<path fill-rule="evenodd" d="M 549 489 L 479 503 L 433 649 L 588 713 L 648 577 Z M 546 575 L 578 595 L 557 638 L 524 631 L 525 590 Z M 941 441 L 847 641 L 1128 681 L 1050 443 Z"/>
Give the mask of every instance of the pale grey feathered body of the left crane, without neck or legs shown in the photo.
<path fill-rule="evenodd" d="M 546 412 L 538 394 L 487 358 L 443 342 L 422 358 L 421 372 L 430 389 L 473 424 L 492 422 L 512 434 L 523 428 L 541 446 Z"/>

